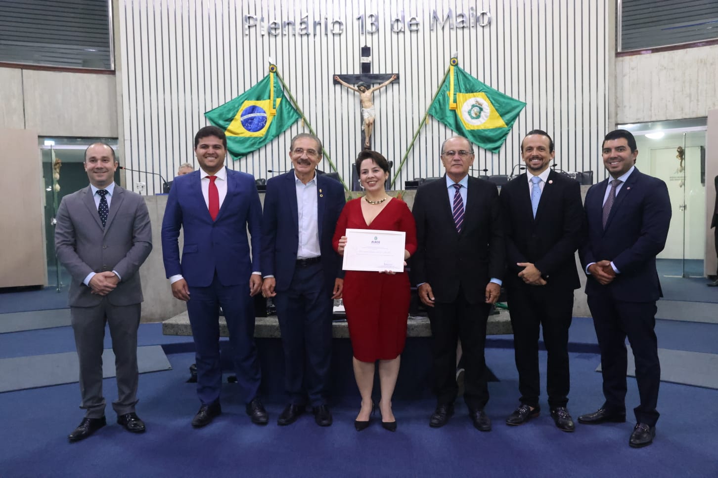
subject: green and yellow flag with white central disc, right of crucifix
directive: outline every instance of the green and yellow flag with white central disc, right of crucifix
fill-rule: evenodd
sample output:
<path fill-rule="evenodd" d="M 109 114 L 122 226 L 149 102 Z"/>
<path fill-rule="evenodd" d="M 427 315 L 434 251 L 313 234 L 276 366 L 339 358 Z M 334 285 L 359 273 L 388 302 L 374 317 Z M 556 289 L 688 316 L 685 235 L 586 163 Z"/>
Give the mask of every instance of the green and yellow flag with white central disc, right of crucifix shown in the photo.
<path fill-rule="evenodd" d="M 485 150 L 498 153 L 526 103 L 472 77 L 452 58 L 429 115 Z"/>

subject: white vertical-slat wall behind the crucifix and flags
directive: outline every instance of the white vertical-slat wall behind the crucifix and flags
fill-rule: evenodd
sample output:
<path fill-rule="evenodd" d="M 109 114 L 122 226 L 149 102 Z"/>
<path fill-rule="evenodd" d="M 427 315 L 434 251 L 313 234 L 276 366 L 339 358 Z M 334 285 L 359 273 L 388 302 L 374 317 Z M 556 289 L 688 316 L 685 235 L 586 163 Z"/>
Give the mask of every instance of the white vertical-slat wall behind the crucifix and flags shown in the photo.
<path fill-rule="evenodd" d="M 442 141 L 452 135 L 429 117 L 421 123 L 452 53 L 478 80 L 527 103 L 499 153 L 477 150 L 478 176 L 510 174 L 521 164 L 519 145 L 533 128 L 556 142 L 556 165 L 565 171 L 595 171 L 604 177 L 600 141 L 609 118 L 607 92 L 607 6 L 599 0 L 121 0 L 121 82 L 124 107 L 123 165 L 171 180 L 184 162 L 195 163 L 192 139 L 206 125 L 205 111 L 240 95 L 276 63 L 299 107 L 322 138 L 342 178 L 350 183 L 360 150 L 358 95 L 333 84 L 333 75 L 360 71 L 360 47 L 372 48 L 374 73 L 398 73 L 400 80 L 375 95 L 378 110 L 374 147 L 395 165 L 420 128 L 396 188 L 416 177 L 441 176 Z M 444 19 L 489 11 L 488 27 L 432 26 Z M 404 31 L 391 20 L 404 14 Z M 368 32 L 368 16 L 378 15 L 378 32 Z M 264 27 L 245 34 L 245 16 L 264 17 Z M 361 32 L 359 16 L 365 31 Z M 416 16 L 419 31 L 409 31 Z M 343 21 L 332 34 L 332 20 Z M 309 35 L 299 35 L 300 22 Z M 267 32 L 279 21 L 281 34 Z M 284 27 L 293 21 L 294 27 Z M 314 21 L 320 21 L 316 27 Z M 317 28 L 317 34 L 314 29 Z M 264 29 L 264 35 L 261 34 Z M 294 32 L 294 34 L 292 34 Z M 292 135 L 307 131 L 299 121 L 269 145 L 230 168 L 267 178 L 291 165 Z M 395 166 L 395 168 L 396 168 Z M 332 168 L 325 158 L 320 168 Z M 393 174 L 396 171 L 392 171 Z M 130 173 L 129 187 L 162 191 L 157 176 Z"/>

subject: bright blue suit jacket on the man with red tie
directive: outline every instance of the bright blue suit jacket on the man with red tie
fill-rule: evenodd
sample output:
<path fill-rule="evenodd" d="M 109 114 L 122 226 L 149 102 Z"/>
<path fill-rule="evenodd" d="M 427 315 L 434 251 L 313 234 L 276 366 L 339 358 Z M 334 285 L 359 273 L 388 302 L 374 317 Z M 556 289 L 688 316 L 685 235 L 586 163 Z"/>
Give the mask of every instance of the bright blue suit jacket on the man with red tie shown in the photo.
<path fill-rule="evenodd" d="M 200 171 L 174 178 L 162 220 L 162 259 L 167 277 L 182 274 L 190 287 L 208 287 L 215 270 L 222 285 L 243 285 L 261 272 L 262 209 L 251 174 L 227 170 L 227 196 L 215 221 L 202 196 Z M 185 231 L 185 245 L 177 238 Z M 251 254 L 247 240 L 251 235 Z"/>

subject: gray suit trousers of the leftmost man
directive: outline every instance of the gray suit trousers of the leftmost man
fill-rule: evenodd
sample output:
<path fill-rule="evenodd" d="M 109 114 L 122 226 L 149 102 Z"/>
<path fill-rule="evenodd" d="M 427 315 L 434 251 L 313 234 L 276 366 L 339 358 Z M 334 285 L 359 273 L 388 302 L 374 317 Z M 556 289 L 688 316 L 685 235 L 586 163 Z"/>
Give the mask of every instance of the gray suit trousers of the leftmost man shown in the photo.
<path fill-rule="evenodd" d="M 105 415 L 102 393 L 102 353 L 105 324 L 110 325 L 115 353 L 117 400 L 112 408 L 118 415 L 135 411 L 137 403 L 137 328 L 140 305 L 111 305 L 104 297 L 95 307 L 70 307 L 75 346 L 80 361 L 80 394 L 85 416 L 98 419 Z"/>

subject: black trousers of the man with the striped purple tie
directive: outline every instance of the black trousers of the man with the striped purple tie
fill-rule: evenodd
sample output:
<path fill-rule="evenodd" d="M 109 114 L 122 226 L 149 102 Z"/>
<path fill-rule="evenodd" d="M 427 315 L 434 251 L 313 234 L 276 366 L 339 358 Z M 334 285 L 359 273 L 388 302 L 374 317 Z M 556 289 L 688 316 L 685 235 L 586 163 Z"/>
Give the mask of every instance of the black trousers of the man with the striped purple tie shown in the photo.
<path fill-rule="evenodd" d="M 436 302 L 429 307 L 432 325 L 432 386 L 437 403 L 454 403 L 456 383 L 456 346 L 461 339 L 464 363 L 464 401 L 472 410 L 481 410 L 489 400 L 488 374 L 484 358 L 486 321 L 490 306 L 484 302 L 470 304 L 459 291 L 454 302 Z"/>

